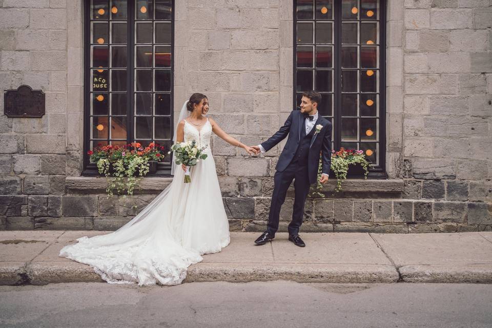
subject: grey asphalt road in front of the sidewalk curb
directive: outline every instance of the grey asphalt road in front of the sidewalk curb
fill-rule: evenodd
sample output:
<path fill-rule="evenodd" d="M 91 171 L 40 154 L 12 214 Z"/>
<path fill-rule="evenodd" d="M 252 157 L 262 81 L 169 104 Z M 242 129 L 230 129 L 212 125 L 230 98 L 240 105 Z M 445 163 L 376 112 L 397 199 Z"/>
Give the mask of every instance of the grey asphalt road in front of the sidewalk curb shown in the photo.
<path fill-rule="evenodd" d="M 0 286 L 1 327 L 492 327 L 490 284 Z"/>

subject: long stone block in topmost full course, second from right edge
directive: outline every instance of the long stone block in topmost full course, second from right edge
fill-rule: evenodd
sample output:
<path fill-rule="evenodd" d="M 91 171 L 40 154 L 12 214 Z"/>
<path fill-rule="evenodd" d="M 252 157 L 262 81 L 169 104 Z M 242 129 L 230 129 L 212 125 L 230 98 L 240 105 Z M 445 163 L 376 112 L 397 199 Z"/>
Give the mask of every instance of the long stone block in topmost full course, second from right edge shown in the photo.
<path fill-rule="evenodd" d="M 472 28 L 471 10 L 437 9 L 430 12 L 430 29 L 454 30 Z"/>

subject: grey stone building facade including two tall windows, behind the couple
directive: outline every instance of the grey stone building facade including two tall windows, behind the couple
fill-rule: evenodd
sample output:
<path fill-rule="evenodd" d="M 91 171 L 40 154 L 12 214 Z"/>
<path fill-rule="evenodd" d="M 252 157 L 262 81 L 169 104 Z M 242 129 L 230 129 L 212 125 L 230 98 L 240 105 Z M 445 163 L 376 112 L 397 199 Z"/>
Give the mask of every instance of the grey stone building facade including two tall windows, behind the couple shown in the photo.
<path fill-rule="evenodd" d="M 4 114 L 22 85 L 44 92 L 42 117 Z M 193 92 L 257 145 L 306 89 L 333 148 L 373 167 L 339 193 L 332 176 L 302 232 L 492 229 L 489 0 L 0 0 L 0 229 L 115 230 L 169 185 L 170 159 L 108 198 L 88 150 L 169 147 Z M 211 147 L 231 230 L 263 231 L 282 145 Z"/>

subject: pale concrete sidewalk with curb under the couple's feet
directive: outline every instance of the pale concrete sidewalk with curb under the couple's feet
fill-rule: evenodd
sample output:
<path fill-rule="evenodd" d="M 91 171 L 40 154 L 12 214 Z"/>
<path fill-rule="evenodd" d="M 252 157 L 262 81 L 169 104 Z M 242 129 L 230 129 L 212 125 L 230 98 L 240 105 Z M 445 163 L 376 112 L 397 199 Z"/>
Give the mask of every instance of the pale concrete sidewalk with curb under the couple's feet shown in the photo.
<path fill-rule="evenodd" d="M 0 284 L 103 281 L 89 265 L 58 257 L 82 236 L 103 231 L 0 231 Z M 492 232 L 440 234 L 285 233 L 255 246 L 258 233 L 232 232 L 221 253 L 188 270 L 192 281 L 492 283 Z"/>

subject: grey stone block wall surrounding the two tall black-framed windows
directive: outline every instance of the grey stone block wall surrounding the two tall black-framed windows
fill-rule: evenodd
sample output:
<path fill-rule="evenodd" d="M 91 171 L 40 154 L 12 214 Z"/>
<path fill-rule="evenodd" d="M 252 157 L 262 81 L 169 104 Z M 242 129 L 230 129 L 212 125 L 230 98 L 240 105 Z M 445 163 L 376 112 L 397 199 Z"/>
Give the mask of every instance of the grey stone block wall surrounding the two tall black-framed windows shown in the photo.
<path fill-rule="evenodd" d="M 43 118 L 0 116 L 0 229 L 115 230 L 171 180 L 107 198 L 104 178 L 80 176 L 80 3 L 0 0 L 0 96 L 28 84 L 47 99 Z M 245 144 L 272 135 L 292 109 L 293 1 L 176 0 L 174 14 L 175 113 L 202 92 Z M 302 231 L 491 230 L 491 19 L 488 0 L 388 0 L 388 179 L 341 193 L 330 181 L 306 201 Z M 257 158 L 216 137 L 212 148 L 231 230 L 263 231 L 282 144 Z M 291 190 L 282 231 L 292 205 Z"/>

